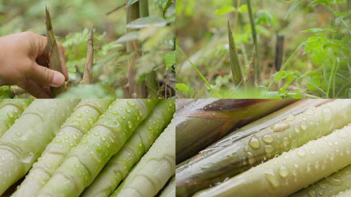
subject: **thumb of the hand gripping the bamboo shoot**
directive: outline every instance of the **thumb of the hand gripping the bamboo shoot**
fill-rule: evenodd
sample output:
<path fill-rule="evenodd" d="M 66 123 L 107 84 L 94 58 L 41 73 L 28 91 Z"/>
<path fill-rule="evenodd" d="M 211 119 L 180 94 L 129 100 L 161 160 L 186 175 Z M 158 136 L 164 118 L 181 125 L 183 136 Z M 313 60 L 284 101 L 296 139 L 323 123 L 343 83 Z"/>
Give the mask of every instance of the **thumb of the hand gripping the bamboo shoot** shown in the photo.
<path fill-rule="evenodd" d="M 51 70 L 36 63 L 34 63 L 28 75 L 31 80 L 44 86 L 60 87 L 65 82 L 65 76 L 61 72 Z"/>

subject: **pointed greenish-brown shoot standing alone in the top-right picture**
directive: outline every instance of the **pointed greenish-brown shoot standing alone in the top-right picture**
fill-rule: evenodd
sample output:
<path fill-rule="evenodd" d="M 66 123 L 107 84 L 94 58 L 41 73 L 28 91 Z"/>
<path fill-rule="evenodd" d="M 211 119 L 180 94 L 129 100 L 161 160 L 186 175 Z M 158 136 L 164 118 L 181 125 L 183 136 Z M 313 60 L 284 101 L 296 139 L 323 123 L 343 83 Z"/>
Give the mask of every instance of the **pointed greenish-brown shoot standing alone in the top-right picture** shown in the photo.
<path fill-rule="evenodd" d="M 230 68 L 233 77 L 234 84 L 236 86 L 245 86 L 245 78 L 243 70 L 240 65 L 240 60 L 235 46 L 233 32 L 228 21 L 228 40 L 229 40 L 229 56 L 230 56 Z"/>

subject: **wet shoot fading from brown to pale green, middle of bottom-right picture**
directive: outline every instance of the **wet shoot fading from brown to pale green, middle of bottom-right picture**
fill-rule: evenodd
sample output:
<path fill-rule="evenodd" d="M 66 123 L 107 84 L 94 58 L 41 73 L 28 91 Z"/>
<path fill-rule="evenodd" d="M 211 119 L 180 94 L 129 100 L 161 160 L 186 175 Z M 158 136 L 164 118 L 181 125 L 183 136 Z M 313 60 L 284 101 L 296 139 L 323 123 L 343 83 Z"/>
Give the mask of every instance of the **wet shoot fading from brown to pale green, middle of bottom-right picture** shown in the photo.
<path fill-rule="evenodd" d="M 249 130 L 240 129 L 237 135 L 226 137 L 177 169 L 177 196 L 210 187 L 275 155 L 327 135 L 351 122 L 346 114 L 351 114 L 351 101 L 336 100 L 289 115 L 243 138 L 242 133 Z"/>

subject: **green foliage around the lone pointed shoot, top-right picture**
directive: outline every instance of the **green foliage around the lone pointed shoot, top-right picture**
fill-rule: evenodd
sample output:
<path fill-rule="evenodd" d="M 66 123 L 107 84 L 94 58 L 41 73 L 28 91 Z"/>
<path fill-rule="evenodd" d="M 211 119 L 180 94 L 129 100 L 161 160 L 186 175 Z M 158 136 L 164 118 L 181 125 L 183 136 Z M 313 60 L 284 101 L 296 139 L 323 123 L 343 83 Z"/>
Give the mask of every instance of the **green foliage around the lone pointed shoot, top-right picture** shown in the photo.
<path fill-rule="evenodd" d="M 177 2 L 179 46 L 189 57 L 177 56 L 179 97 L 344 98 L 351 95 L 351 12 L 347 1 L 252 1 L 258 50 L 254 48 L 246 1 L 237 5 L 238 2 Z M 251 84 L 246 89 L 234 86 L 230 76 L 225 28 L 228 18 L 245 80 Z M 277 34 L 285 37 L 283 65 L 278 71 L 274 67 Z M 255 61 L 260 74 L 258 84 L 251 82 L 257 71 Z M 213 91 L 206 88 L 208 85 L 201 81 L 198 71 Z"/>

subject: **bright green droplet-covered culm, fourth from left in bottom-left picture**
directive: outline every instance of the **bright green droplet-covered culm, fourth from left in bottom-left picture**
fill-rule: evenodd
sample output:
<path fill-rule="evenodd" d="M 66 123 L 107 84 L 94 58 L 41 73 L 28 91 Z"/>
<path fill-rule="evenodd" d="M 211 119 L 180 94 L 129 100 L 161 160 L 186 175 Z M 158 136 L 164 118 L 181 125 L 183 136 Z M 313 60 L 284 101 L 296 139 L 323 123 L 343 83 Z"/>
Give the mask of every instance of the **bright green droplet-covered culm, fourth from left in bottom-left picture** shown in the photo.
<path fill-rule="evenodd" d="M 81 142 L 37 196 L 79 196 L 116 154 L 158 100 L 116 100 L 94 123 Z"/>

